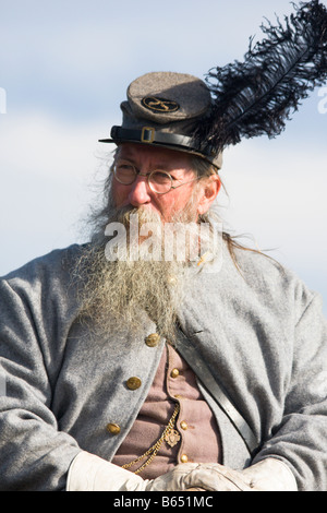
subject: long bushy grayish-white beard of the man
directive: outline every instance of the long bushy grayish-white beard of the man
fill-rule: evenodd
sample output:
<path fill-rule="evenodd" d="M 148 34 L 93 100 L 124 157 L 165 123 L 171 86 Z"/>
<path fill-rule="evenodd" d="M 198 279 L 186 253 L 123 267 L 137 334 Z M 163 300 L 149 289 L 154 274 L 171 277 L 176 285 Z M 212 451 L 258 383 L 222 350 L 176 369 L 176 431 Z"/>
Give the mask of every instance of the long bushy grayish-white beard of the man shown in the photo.
<path fill-rule="evenodd" d="M 131 219 L 137 220 L 141 237 L 131 234 Z M 173 251 L 162 237 L 165 224 L 154 211 L 131 205 L 112 208 L 106 220 L 106 228 L 102 223 L 75 269 L 75 275 L 83 284 L 80 294 L 82 318 L 104 331 L 124 325 L 136 334 L 144 322 L 140 312 L 145 311 L 156 322 L 158 331 L 172 341 L 178 307 L 185 291 L 185 275 L 190 261 L 197 258 L 193 242 L 198 246 L 198 224 L 193 202 L 171 219 L 173 225 L 187 226 L 189 236 L 186 243 L 182 237 L 180 242 L 174 239 Z M 120 253 L 122 258 L 116 258 L 119 251 L 114 252 L 119 238 L 113 236 L 113 228 L 118 226 L 124 232 L 123 241 L 129 242 Z M 146 235 L 148 226 L 153 228 L 150 235 Z M 133 244 L 130 244 L 131 235 Z M 169 250 L 169 258 L 165 249 Z"/>

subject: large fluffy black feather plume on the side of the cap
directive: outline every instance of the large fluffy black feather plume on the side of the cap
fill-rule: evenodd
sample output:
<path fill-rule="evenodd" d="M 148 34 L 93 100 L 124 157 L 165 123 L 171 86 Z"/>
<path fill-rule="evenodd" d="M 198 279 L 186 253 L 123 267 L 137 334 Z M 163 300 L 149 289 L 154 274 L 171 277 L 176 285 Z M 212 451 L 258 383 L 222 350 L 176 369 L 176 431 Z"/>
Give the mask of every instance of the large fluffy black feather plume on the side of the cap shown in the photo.
<path fill-rule="evenodd" d="M 327 10 L 318 0 L 294 5 L 284 26 L 268 22 L 267 36 L 244 56 L 208 72 L 210 115 L 195 131 L 215 151 L 243 138 L 278 135 L 308 92 L 327 80 Z M 216 83 L 213 83 L 215 81 Z"/>

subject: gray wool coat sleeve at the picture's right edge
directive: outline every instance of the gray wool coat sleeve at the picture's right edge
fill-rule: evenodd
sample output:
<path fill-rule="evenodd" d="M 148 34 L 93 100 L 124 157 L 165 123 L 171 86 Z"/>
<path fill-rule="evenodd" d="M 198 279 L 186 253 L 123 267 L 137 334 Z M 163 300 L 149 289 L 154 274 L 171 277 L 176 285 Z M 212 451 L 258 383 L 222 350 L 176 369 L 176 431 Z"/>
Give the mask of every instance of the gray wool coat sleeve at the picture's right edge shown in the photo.
<path fill-rule="evenodd" d="M 319 295 L 302 306 L 284 415 L 254 462 L 274 456 L 292 469 L 300 490 L 327 490 L 327 322 Z"/>

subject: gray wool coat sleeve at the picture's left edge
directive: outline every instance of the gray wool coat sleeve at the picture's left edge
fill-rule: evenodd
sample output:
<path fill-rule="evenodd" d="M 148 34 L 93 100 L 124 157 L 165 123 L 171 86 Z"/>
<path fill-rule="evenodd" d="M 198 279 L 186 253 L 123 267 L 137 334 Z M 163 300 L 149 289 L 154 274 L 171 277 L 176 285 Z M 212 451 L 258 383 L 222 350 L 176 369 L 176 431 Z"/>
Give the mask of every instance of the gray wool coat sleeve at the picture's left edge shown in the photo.
<path fill-rule="evenodd" d="M 39 343 L 41 321 L 28 299 L 0 282 L 0 490 L 64 490 L 80 448 L 58 429 Z"/>

